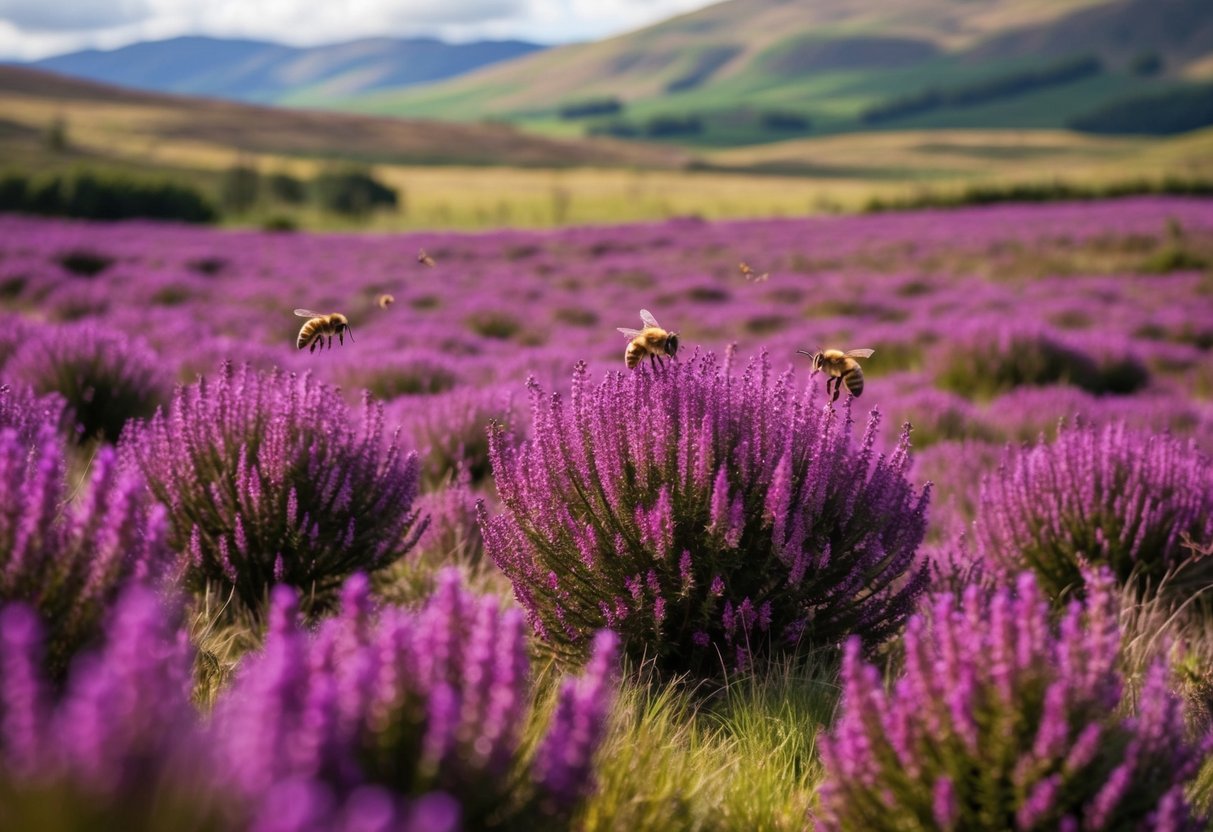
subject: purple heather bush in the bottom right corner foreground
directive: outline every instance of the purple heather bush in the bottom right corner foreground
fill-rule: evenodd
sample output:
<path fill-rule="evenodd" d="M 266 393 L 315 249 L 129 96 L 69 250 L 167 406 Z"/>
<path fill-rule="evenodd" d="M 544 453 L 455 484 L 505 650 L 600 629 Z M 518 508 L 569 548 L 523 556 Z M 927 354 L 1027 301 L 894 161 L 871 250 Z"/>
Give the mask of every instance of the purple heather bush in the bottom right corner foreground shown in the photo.
<path fill-rule="evenodd" d="M 818 828 L 1197 828 L 1184 785 L 1213 745 L 1189 741 L 1164 662 L 1123 716 L 1110 579 L 1057 626 L 1030 572 L 1016 588 L 938 595 L 888 691 L 848 643 Z"/>

